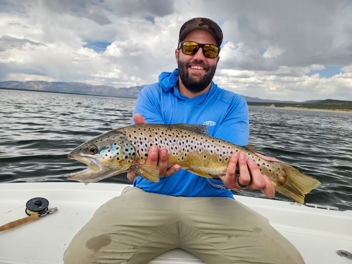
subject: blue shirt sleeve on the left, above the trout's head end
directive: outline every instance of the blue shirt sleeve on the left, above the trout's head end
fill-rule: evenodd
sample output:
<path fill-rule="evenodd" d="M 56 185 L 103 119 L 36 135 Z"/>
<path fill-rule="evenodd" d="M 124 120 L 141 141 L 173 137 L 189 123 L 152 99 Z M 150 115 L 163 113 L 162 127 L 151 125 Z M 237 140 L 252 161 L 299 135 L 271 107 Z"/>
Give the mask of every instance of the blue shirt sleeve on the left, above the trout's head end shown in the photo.
<path fill-rule="evenodd" d="M 142 89 L 134 107 L 132 125 L 136 113 L 141 114 L 147 123 L 164 124 L 160 111 L 160 96 L 161 87 L 158 83 L 150 84 Z"/>

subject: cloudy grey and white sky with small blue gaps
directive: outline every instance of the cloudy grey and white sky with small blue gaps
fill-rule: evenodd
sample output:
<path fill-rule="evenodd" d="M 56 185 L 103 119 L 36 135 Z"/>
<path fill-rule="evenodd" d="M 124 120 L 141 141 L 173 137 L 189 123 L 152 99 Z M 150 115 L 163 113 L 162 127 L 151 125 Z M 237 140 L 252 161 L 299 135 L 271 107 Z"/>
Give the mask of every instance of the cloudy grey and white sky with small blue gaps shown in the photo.
<path fill-rule="evenodd" d="M 177 67 L 184 21 L 224 32 L 214 81 L 277 100 L 352 100 L 352 1 L 0 0 L 0 81 L 131 87 Z"/>

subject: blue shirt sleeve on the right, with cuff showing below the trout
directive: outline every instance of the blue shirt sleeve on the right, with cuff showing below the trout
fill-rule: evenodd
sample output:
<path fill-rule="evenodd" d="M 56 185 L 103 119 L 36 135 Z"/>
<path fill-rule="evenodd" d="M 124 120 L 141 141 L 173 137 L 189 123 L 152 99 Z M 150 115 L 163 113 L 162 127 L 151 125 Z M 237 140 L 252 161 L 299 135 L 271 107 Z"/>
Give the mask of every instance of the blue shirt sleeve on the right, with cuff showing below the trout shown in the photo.
<path fill-rule="evenodd" d="M 247 145 L 249 137 L 249 113 L 246 101 L 238 95 L 238 100 L 233 100 L 231 107 L 214 137 L 224 139 L 236 145 Z M 206 178 L 208 184 L 218 190 L 229 190 L 225 184 L 216 178 Z"/>

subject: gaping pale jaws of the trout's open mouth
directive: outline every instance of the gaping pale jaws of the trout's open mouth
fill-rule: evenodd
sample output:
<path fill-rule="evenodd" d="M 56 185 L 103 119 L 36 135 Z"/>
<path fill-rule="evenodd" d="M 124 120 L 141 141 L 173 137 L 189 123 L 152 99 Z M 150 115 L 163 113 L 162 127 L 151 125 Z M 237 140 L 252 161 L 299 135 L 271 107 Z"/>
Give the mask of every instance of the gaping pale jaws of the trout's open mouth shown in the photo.
<path fill-rule="evenodd" d="M 93 158 L 85 156 L 77 157 L 72 153 L 70 153 L 68 157 L 71 159 L 76 159 L 77 161 L 80 161 L 88 166 L 85 170 L 70 173 L 68 178 L 71 180 L 90 183 L 100 181 L 116 174 L 116 172 L 111 168 L 103 166 L 99 161 L 96 161 Z"/>

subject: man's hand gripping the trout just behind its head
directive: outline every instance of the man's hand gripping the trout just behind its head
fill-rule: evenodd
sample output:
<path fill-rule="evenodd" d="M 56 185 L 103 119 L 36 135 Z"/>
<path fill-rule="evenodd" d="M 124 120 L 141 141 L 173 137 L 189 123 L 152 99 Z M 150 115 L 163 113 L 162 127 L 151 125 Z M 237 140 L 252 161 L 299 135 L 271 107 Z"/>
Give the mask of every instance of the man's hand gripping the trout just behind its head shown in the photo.
<path fill-rule="evenodd" d="M 145 119 L 140 114 L 135 114 L 133 120 L 136 124 L 146 123 Z M 160 176 L 170 176 L 180 170 L 180 165 L 174 165 L 168 169 L 168 150 L 165 147 L 158 149 L 158 146 L 151 146 L 148 152 L 148 158 L 145 163 L 152 163 L 159 166 Z M 127 173 L 127 178 L 133 181 L 138 175 L 130 171 Z"/>

